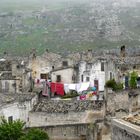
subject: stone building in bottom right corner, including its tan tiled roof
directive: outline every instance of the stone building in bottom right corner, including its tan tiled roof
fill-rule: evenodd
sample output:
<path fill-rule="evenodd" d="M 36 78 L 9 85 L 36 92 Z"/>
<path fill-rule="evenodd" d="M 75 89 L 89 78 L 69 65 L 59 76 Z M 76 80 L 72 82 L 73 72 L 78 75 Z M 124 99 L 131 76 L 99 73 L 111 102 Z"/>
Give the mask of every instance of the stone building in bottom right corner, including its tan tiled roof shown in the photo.
<path fill-rule="evenodd" d="M 112 140 L 140 140 L 140 115 L 114 119 L 111 134 Z"/>

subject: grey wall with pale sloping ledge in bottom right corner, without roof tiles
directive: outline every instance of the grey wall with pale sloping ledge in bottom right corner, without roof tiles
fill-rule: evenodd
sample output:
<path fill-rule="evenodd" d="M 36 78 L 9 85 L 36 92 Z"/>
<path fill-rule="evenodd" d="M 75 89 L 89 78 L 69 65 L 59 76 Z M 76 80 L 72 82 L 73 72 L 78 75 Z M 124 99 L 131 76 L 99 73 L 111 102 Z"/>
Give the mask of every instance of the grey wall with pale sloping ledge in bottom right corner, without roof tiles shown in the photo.
<path fill-rule="evenodd" d="M 123 120 L 112 121 L 112 140 L 140 140 L 140 127 Z"/>

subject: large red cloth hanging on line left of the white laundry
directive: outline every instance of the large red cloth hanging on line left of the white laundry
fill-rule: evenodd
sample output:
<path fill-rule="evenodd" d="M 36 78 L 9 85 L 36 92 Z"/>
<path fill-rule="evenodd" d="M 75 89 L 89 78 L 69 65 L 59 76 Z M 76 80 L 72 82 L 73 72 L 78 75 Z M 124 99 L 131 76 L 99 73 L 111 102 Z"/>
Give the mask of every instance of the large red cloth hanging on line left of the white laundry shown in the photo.
<path fill-rule="evenodd" d="M 64 84 L 61 83 L 51 83 L 51 92 L 57 95 L 64 95 Z"/>

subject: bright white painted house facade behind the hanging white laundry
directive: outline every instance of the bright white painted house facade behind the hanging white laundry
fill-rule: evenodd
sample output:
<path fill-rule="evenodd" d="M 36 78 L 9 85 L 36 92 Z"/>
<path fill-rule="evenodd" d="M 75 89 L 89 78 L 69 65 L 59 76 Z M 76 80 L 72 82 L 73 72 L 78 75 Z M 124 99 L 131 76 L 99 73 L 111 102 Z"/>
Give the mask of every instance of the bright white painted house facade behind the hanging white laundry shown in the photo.
<path fill-rule="evenodd" d="M 101 63 L 104 63 L 104 71 L 101 70 Z M 105 62 L 100 60 L 93 63 L 81 61 L 79 63 L 79 82 L 90 82 L 90 86 L 94 86 L 94 80 L 98 80 L 98 90 L 104 91 Z"/>

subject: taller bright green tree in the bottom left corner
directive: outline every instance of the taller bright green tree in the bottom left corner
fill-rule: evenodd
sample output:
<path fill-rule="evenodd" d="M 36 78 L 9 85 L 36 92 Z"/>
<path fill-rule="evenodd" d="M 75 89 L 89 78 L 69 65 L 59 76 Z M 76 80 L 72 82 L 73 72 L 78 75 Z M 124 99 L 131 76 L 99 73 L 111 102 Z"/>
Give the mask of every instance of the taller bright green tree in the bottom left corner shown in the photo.
<path fill-rule="evenodd" d="M 24 122 L 20 120 L 8 122 L 4 118 L 0 124 L 0 140 L 18 140 L 23 135 Z"/>

